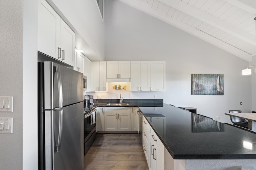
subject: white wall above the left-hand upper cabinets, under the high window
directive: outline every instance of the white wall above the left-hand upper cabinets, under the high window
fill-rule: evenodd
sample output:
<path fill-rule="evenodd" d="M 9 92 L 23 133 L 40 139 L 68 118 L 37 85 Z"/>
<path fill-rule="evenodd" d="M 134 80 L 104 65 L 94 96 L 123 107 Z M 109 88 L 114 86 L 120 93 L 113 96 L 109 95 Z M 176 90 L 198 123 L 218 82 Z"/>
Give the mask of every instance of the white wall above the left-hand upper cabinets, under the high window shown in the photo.
<path fill-rule="evenodd" d="M 70 26 L 76 29 L 97 55 L 96 58 L 87 57 L 92 61 L 104 61 L 104 24 L 96 0 L 46 1 L 64 21 L 66 18 L 72 24 Z"/>

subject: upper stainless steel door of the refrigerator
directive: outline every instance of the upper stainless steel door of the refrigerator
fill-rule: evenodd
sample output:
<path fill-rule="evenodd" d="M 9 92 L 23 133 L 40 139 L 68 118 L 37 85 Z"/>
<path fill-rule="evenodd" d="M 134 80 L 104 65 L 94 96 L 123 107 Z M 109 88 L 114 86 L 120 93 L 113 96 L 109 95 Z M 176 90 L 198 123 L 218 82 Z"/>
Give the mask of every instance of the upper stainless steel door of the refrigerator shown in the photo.
<path fill-rule="evenodd" d="M 56 64 L 44 62 L 44 109 L 61 108 L 83 101 L 83 74 Z"/>

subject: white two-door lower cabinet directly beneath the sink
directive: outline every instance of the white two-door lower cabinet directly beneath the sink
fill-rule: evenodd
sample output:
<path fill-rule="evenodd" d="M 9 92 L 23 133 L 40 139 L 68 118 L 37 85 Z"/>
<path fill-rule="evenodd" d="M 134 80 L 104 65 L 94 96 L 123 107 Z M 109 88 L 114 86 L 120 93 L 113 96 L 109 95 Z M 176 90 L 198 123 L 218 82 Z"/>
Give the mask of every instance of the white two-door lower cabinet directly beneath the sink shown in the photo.
<path fill-rule="evenodd" d="M 131 131 L 131 108 L 105 107 L 104 131 Z"/>

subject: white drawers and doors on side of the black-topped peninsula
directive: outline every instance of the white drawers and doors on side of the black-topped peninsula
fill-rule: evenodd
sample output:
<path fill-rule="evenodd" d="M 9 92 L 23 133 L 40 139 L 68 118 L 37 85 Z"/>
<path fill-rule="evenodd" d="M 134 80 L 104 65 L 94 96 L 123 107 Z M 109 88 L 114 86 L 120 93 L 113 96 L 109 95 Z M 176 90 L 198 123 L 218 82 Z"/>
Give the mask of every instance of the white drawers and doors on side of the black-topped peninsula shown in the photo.
<path fill-rule="evenodd" d="M 148 167 L 150 170 L 164 170 L 164 145 L 144 116 L 142 124 L 142 147 L 148 162 Z"/>

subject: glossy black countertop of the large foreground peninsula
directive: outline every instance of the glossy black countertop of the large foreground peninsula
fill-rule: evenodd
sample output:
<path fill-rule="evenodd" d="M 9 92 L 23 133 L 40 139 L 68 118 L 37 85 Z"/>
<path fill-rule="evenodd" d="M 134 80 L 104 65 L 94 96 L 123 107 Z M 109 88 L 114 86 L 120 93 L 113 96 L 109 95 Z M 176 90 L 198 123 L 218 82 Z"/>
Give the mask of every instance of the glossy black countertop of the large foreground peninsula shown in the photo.
<path fill-rule="evenodd" d="M 168 104 L 139 108 L 174 159 L 256 159 L 254 132 Z"/>

